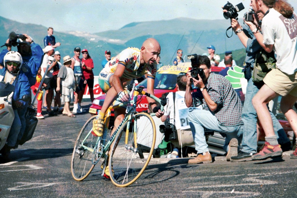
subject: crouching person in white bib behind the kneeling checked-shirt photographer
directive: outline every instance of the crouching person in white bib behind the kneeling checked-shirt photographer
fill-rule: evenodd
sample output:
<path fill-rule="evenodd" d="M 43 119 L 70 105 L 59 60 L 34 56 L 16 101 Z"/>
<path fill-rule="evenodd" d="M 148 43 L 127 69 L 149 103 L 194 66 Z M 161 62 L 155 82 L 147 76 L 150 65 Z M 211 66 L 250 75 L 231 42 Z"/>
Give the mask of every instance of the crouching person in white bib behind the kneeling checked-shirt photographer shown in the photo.
<path fill-rule="evenodd" d="M 185 91 L 187 86 L 187 76 L 180 75 L 176 78 L 176 89 L 177 92 L 170 92 L 167 95 L 168 103 L 164 107 L 164 115 L 161 117 L 161 121 L 165 122 L 168 117 L 170 118 L 169 123 L 165 122 L 166 125 L 161 125 L 165 132 L 167 139 L 171 140 L 171 143 L 174 145 L 173 152 L 170 154 L 170 158 L 178 157 L 178 148 L 182 148 L 184 146 L 190 146 L 194 144 L 194 139 L 192 136 L 192 131 L 187 121 L 187 114 L 189 112 L 189 108 L 187 108 L 185 103 Z M 160 131 L 161 131 L 160 126 Z M 161 131 L 161 132 L 162 132 Z M 170 136 L 169 133 L 174 133 L 174 137 Z M 169 155 L 162 155 L 163 157 L 168 157 Z"/>

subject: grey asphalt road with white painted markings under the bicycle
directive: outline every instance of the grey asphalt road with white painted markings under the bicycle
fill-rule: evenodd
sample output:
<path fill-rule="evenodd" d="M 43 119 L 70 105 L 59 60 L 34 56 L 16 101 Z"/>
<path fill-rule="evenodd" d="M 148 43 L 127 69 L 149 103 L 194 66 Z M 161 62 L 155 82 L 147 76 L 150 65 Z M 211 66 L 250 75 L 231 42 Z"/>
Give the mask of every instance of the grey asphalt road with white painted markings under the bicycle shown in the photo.
<path fill-rule="evenodd" d="M 89 103 L 85 108 L 89 107 Z M 75 139 L 90 114 L 39 120 L 33 138 L 0 164 L 0 197 L 297 197 L 297 161 L 187 164 L 188 158 L 150 161 L 131 186 L 120 188 L 101 177 L 97 165 L 86 180 L 70 172 Z"/>

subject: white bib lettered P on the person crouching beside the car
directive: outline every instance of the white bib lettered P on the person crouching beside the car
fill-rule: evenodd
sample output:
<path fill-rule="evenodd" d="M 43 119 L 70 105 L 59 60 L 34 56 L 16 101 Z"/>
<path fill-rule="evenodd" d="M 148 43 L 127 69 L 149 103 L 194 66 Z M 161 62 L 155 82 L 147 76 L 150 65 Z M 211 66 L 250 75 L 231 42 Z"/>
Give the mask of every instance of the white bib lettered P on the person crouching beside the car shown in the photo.
<path fill-rule="evenodd" d="M 173 92 L 170 92 L 166 98 L 169 99 L 168 104 L 164 107 L 164 115 L 170 117 L 170 123 L 176 126 L 176 129 L 189 129 L 188 112 L 189 109 L 202 109 L 199 107 L 188 108 L 185 103 L 185 93 L 184 91 L 175 92 L 175 123 L 174 123 L 174 107 L 173 107 Z"/>

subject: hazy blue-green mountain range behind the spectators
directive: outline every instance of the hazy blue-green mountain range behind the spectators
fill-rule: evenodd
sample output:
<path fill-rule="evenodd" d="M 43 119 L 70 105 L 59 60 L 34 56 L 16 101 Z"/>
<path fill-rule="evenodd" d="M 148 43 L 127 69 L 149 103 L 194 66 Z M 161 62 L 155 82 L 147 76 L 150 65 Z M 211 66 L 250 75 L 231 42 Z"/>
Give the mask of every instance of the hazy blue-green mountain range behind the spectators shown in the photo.
<path fill-rule="evenodd" d="M 58 23 L 58 22 L 57 22 Z M 176 50 L 184 51 L 184 58 L 188 54 L 207 53 L 207 46 L 214 45 L 216 53 L 224 58 L 225 51 L 233 51 L 233 58 L 241 66 L 245 57 L 245 50 L 234 34 L 226 37 L 229 20 L 196 20 L 191 18 L 176 18 L 172 20 L 147 21 L 129 23 L 118 30 L 98 33 L 79 31 L 56 32 L 57 47 L 61 56 L 73 56 L 73 49 L 80 47 L 88 49 L 94 60 L 94 74 L 98 75 L 102 69 L 101 61 L 105 58 L 105 50 L 110 50 L 115 56 L 127 47 L 140 48 L 143 41 L 149 37 L 157 39 L 161 45 L 161 62 L 171 65 L 176 56 Z M 55 28 L 53 23 L 53 28 Z M 36 24 L 24 24 L 0 16 L 0 44 L 4 44 L 10 32 L 28 34 L 35 43 L 44 48 L 43 38 L 47 35 L 48 27 Z M 231 35 L 231 30 L 228 35 Z M 1 45 L 3 45 L 1 44 Z M 16 50 L 16 49 L 15 49 Z"/>

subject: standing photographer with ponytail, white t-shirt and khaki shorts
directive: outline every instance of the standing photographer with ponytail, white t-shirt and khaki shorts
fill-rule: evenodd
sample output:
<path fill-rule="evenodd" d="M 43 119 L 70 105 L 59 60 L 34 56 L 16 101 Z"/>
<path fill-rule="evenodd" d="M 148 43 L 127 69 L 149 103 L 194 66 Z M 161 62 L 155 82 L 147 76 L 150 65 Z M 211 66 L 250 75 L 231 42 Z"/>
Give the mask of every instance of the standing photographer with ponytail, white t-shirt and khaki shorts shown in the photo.
<path fill-rule="evenodd" d="M 282 148 L 274 132 L 267 103 L 282 95 L 280 108 L 297 136 L 297 114 L 293 105 L 297 100 L 297 15 L 293 7 L 283 0 L 252 0 L 250 6 L 256 14 L 262 13 L 263 35 L 254 23 L 247 23 L 258 43 L 268 53 L 274 51 L 276 68 L 272 69 L 265 83 L 252 99 L 258 119 L 265 132 L 265 144 L 252 156 L 252 160 L 282 156 Z M 291 158 L 297 158 L 296 144 Z"/>

